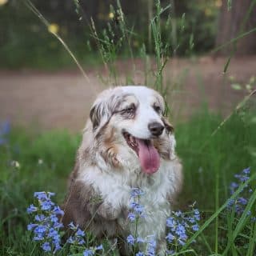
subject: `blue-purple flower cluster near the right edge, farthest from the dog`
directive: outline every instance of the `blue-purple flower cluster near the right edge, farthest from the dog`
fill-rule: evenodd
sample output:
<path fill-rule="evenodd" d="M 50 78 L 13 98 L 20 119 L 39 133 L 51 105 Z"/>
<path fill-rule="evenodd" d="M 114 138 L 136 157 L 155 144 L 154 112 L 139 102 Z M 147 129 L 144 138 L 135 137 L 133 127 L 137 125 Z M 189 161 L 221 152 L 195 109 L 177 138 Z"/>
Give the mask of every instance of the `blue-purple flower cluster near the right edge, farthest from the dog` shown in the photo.
<path fill-rule="evenodd" d="M 241 174 L 235 174 L 234 178 L 238 180 L 238 182 L 231 182 L 230 184 L 230 194 L 234 194 L 235 190 L 238 189 L 238 186 L 240 186 L 241 183 L 246 182 L 250 178 L 250 167 L 242 170 Z M 244 212 L 246 205 L 248 203 L 248 197 L 250 194 L 253 192 L 251 187 L 247 185 L 243 190 L 242 190 L 242 196 L 235 199 L 230 199 L 227 209 L 232 210 L 234 209 L 235 213 L 240 215 Z M 250 214 L 250 212 L 249 212 Z M 252 218 L 254 219 L 254 217 Z"/>

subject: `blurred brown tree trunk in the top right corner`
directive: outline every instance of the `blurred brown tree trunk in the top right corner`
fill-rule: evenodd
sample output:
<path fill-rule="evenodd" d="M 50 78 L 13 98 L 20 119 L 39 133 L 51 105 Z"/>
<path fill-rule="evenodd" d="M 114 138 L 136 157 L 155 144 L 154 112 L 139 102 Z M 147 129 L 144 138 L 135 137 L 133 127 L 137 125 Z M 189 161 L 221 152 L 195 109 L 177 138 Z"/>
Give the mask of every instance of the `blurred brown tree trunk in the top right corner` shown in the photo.
<path fill-rule="evenodd" d="M 253 2 L 254 6 L 250 11 Z M 238 35 L 256 27 L 256 5 L 254 0 L 233 0 L 231 4 L 231 9 L 227 10 L 226 1 L 222 2 L 216 46 L 230 42 L 232 38 L 237 38 Z M 218 54 L 227 55 L 233 50 L 237 55 L 256 54 L 256 31 L 222 48 L 218 51 Z"/>

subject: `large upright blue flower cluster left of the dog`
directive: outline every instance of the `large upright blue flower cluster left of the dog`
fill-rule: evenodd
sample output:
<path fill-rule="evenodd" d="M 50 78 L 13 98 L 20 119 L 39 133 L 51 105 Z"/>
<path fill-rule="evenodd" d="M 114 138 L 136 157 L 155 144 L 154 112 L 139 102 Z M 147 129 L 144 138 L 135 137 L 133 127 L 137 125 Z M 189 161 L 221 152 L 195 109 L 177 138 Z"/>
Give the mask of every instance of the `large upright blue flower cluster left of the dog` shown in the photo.
<path fill-rule="evenodd" d="M 28 214 L 34 215 L 34 223 L 27 226 L 34 234 L 34 241 L 38 241 L 42 250 L 56 253 L 62 247 L 60 246 L 61 237 L 59 229 L 63 226 L 59 222 L 59 217 L 64 212 L 51 201 L 50 192 L 35 192 L 34 198 L 38 199 L 38 206 L 33 204 L 27 208 Z"/>

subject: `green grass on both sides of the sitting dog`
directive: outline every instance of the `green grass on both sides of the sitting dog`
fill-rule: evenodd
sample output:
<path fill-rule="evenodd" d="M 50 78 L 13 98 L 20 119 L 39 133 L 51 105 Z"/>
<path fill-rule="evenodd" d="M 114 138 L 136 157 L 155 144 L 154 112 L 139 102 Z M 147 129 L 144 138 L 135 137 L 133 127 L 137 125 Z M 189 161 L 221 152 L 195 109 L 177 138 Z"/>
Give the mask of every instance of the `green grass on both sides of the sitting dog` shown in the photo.
<path fill-rule="evenodd" d="M 256 158 L 251 150 L 256 145 L 256 124 L 250 120 L 250 111 L 246 114 L 236 113 L 213 138 L 210 138 L 210 134 L 222 118 L 210 114 L 206 109 L 189 122 L 176 126 L 177 150 L 185 174 L 178 208 L 186 209 L 196 201 L 206 223 L 210 215 L 216 214 L 230 197 L 228 187 L 234 181 L 234 174 L 247 166 L 255 172 Z M 34 243 L 26 231 L 26 225 L 30 222 L 26 207 L 33 202 L 34 191 L 40 190 L 55 192 L 58 203 L 63 202 L 66 180 L 74 166 L 75 151 L 81 137 L 59 130 L 38 134 L 33 130 L 13 128 L 8 139 L 8 144 L 0 147 L 0 252 L 1 255 L 26 255 L 34 250 L 34 254 L 40 255 L 40 250 L 34 249 Z M 206 146 L 202 148 L 202 145 Z M 19 163 L 18 168 L 11 164 L 14 160 Z M 254 209 L 254 205 L 253 202 L 250 210 Z M 226 230 L 228 223 L 223 216 L 219 215 L 217 241 L 213 232 L 214 222 L 211 222 L 192 246 L 200 255 L 214 252 L 215 242 L 218 253 L 225 251 L 228 244 L 226 234 L 230 231 Z M 248 237 L 248 229 L 253 228 L 255 230 L 255 224 L 246 220 L 245 226 L 238 230 L 238 237 Z M 252 243 L 251 246 L 254 246 L 255 241 Z M 242 246 L 245 246 L 244 242 Z M 241 250 L 239 242 L 238 249 Z"/>

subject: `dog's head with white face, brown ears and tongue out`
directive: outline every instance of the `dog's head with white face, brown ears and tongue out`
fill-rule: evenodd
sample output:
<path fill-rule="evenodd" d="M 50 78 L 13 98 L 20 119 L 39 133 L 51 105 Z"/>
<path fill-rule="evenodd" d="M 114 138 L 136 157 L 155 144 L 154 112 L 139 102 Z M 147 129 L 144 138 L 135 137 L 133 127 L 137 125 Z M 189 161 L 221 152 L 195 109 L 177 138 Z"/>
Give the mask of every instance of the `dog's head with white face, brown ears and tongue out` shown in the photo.
<path fill-rule="evenodd" d="M 173 127 L 163 117 L 164 108 L 162 96 L 145 86 L 104 90 L 90 110 L 87 131 L 106 162 L 122 167 L 135 162 L 153 174 L 160 158 L 174 156 Z"/>

